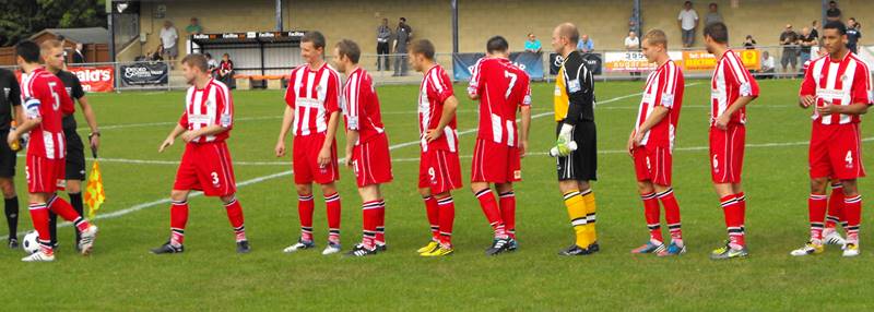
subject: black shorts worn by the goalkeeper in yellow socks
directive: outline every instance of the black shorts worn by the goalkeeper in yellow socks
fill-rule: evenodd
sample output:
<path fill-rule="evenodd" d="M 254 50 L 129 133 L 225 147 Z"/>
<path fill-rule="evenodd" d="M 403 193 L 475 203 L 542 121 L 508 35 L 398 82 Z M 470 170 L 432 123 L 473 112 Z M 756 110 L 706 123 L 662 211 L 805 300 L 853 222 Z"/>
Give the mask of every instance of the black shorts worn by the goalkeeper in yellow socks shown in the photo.
<path fill-rule="evenodd" d="M 562 130 L 556 125 L 555 134 Z M 570 136 L 577 142 L 577 149 L 566 157 L 556 158 L 558 181 L 598 180 L 598 142 L 594 122 L 581 121 L 574 127 Z"/>

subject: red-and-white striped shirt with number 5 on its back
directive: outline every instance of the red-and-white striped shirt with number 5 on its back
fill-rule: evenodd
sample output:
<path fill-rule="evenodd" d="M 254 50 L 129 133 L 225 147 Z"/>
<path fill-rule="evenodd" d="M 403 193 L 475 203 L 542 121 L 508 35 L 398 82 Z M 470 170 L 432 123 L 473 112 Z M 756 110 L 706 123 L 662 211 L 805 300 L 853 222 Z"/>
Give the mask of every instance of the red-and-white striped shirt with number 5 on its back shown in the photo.
<path fill-rule="evenodd" d="M 43 121 L 31 130 L 27 156 L 48 159 L 67 157 L 61 107 L 72 105 L 63 83 L 45 69 L 37 69 L 21 75 L 21 99 L 27 119 L 40 118 Z"/>

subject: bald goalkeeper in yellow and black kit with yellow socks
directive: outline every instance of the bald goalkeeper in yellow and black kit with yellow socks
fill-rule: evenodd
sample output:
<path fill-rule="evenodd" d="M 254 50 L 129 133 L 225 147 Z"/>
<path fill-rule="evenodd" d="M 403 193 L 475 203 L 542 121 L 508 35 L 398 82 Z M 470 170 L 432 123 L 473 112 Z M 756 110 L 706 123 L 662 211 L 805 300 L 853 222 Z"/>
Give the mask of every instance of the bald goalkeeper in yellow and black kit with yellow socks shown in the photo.
<path fill-rule="evenodd" d="M 550 154 L 556 157 L 558 188 L 565 199 L 576 241 L 562 255 L 598 252 L 595 204 L 590 181 L 597 179 L 598 149 L 594 127 L 594 82 L 582 55 L 576 50 L 580 33 L 570 23 L 555 27 L 552 45 L 562 56 L 555 82 L 555 121 L 558 140 Z"/>

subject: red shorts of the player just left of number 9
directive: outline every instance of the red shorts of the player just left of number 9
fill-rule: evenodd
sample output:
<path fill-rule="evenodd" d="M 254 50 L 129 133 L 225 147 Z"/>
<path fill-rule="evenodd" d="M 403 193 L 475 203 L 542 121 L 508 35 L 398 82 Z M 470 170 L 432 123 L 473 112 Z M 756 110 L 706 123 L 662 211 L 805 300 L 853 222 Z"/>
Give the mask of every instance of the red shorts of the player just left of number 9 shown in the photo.
<path fill-rule="evenodd" d="M 382 134 L 353 147 L 352 168 L 358 188 L 391 182 L 389 139 Z"/>

